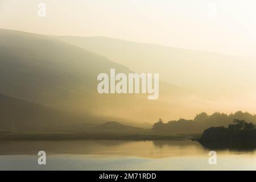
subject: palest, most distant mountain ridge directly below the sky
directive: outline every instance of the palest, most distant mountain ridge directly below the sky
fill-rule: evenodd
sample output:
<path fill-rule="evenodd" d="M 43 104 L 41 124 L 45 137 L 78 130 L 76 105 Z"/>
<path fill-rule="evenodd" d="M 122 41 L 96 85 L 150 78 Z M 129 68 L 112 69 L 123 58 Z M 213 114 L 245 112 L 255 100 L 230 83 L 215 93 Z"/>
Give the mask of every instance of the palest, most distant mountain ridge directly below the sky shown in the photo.
<path fill-rule="evenodd" d="M 199 100 L 227 100 L 241 97 L 241 93 L 254 94 L 256 89 L 255 57 L 106 37 L 51 37 L 99 53 L 135 72 L 159 73 L 162 81 L 194 90 Z"/>

